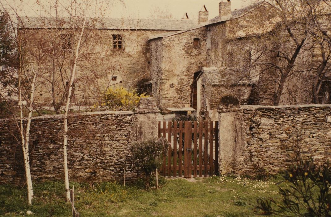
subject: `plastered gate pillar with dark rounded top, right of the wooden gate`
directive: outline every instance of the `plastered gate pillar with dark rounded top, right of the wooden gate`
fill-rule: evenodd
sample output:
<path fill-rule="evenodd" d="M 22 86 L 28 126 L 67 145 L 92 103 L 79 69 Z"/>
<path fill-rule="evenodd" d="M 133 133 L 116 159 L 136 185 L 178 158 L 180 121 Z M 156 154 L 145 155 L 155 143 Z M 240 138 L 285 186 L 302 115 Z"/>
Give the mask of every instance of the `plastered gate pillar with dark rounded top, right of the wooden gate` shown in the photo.
<path fill-rule="evenodd" d="M 223 96 L 218 107 L 219 174 L 235 173 L 242 161 L 245 144 L 240 105 L 235 96 Z"/>

